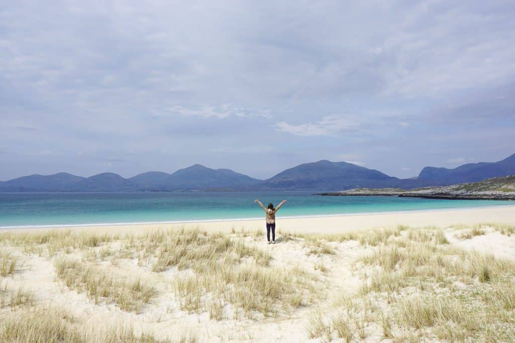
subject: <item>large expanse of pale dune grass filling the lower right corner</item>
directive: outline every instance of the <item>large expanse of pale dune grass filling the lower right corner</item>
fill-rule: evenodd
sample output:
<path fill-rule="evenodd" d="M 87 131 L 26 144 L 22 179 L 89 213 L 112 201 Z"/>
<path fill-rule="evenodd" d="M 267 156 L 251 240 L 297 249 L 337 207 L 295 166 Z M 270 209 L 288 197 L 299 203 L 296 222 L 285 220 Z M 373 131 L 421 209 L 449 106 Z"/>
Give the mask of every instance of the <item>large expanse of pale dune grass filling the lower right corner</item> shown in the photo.
<path fill-rule="evenodd" d="M 436 228 L 400 231 L 359 236 L 376 244 L 355 262 L 363 285 L 333 313 L 315 312 L 310 337 L 363 340 L 381 330 L 392 341 L 515 339 L 515 263 L 452 247 Z"/>

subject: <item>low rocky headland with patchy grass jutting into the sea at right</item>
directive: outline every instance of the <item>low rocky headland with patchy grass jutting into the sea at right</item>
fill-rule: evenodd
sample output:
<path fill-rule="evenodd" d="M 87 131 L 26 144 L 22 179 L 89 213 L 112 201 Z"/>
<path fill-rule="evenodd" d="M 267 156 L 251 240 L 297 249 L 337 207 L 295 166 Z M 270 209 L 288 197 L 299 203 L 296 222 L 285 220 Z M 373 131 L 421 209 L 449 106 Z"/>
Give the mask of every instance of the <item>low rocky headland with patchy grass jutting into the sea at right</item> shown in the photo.
<path fill-rule="evenodd" d="M 401 196 L 450 200 L 515 200 L 515 175 L 451 186 L 401 188 L 353 188 L 340 192 L 316 193 L 334 196 Z"/>

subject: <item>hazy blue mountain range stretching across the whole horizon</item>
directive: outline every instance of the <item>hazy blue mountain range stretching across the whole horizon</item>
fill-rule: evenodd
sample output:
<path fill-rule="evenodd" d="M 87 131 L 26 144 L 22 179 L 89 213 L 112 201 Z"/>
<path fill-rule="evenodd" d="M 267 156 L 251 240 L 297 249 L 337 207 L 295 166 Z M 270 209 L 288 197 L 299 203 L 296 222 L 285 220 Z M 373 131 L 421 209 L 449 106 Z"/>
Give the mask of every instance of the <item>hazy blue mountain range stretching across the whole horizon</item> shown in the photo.
<path fill-rule="evenodd" d="M 466 164 L 454 169 L 425 167 L 418 177 L 400 179 L 347 162 L 318 162 L 286 169 L 266 180 L 230 169 L 193 165 L 172 174 L 151 171 L 130 178 L 114 173 L 81 177 L 68 173 L 28 175 L 0 182 L 0 192 L 131 192 L 221 190 L 346 190 L 445 186 L 515 174 L 515 154 L 498 162 Z"/>

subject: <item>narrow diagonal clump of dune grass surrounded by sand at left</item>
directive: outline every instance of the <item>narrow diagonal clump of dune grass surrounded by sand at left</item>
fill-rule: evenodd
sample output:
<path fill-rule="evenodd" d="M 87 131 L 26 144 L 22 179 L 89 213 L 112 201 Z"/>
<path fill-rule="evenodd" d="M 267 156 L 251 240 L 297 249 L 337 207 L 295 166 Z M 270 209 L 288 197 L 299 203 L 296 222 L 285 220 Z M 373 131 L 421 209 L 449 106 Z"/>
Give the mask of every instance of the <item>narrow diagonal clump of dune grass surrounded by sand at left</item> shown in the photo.
<path fill-rule="evenodd" d="M 116 279 L 99 268 L 85 266 L 79 261 L 59 258 L 55 261 L 57 275 L 68 288 L 86 292 L 95 304 L 105 299 L 120 309 L 139 313 L 142 306 L 157 295 L 154 287 L 141 280 Z"/>

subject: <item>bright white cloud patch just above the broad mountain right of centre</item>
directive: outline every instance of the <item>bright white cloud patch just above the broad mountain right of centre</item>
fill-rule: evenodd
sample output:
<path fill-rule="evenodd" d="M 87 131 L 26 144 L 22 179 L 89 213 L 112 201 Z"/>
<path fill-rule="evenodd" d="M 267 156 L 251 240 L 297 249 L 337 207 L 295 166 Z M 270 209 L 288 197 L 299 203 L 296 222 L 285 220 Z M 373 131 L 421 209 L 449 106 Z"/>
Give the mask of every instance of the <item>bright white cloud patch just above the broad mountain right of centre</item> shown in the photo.
<path fill-rule="evenodd" d="M 296 136 L 327 136 L 334 135 L 340 131 L 353 129 L 352 123 L 345 118 L 323 117 L 322 120 L 304 124 L 289 124 L 281 121 L 275 125 L 277 131 L 286 132 Z"/>

